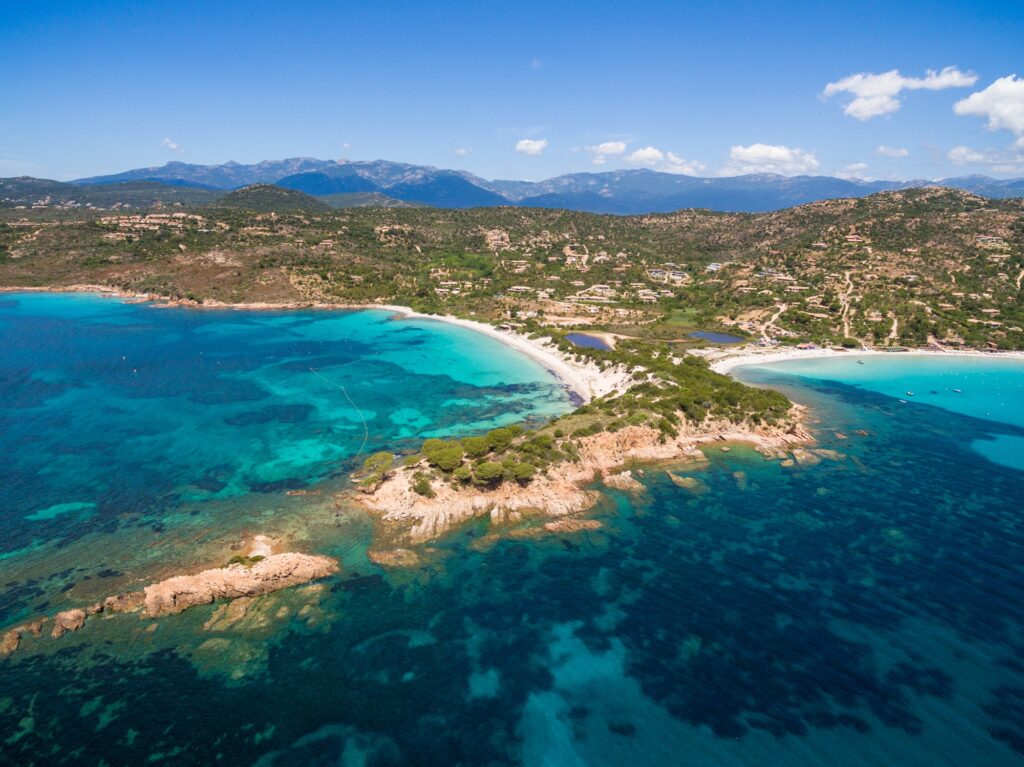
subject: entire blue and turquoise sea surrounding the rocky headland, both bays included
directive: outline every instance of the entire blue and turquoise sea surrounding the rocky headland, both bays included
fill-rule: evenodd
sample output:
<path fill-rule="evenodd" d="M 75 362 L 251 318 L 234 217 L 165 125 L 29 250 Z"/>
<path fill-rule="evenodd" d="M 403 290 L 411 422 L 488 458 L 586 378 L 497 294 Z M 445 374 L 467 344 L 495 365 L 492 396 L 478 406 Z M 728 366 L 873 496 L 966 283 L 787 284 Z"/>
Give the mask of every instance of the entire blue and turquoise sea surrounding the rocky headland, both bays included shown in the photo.
<path fill-rule="evenodd" d="M 0 340 L 0 626 L 241 530 L 343 564 L 237 623 L 28 641 L 0 763 L 1024 764 L 1024 365 L 741 369 L 811 407 L 820 463 L 710 451 L 599 530 L 480 520 L 385 570 L 333 495 L 362 420 L 371 450 L 543 418 L 543 370 L 380 312 L 8 295 Z"/>

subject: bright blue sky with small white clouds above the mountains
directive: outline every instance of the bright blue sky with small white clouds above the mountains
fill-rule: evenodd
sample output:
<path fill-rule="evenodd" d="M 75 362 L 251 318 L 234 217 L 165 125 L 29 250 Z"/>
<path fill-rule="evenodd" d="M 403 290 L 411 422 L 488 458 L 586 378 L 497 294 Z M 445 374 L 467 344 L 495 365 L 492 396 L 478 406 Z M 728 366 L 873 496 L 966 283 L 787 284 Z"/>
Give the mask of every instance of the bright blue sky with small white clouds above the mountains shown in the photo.
<path fill-rule="evenodd" d="M 0 176 L 302 156 L 488 178 L 1024 176 L 1021 2 L 0 0 Z"/>

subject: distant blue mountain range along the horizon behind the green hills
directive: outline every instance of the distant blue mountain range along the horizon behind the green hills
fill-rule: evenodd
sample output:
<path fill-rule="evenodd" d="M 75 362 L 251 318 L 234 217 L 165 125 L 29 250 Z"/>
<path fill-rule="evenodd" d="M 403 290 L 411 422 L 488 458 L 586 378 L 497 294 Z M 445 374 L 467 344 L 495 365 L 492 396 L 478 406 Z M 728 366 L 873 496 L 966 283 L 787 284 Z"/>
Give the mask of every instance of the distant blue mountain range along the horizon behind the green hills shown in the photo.
<path fill-rule="evenodd" d="M 0 180 L 0 197 L 5 190 L 4 181 L 12 180 Z M 40 188 L 50 184 L 54 194 L 70 194 L 69 184 L 41 179 L 17 180 L 37 182 Z M 660 213 L 684 208 L 762 212 L 818 200 L 858 198 L 878 191 L 936 185 L 988 198 L 1024 197 L 1024 179 L 988 176 L 865 181 L 833 176 L 760 173 L 702 178 L 638 169 L 571 173 L 544 181 L 516 181 L 487 180 L 465 171 L 384 160 L 360 162 L 314 158 L 264 161 L 254 165 L 171 162 L 160 167 L 138 168 L 71 182 L 78 187 L 80 197 L 91 198 L 95 187 L 111 185 L 130 190 L 136 197 L 142 185 L 142 190 L 148 193 L 142 195 L 143 198 L 160 197 L 156 195 L 157 187 L 170 185 L 191 190 L 184 197 L 195 202 L 213 202 L 226 191 L 252 184 L 274 184 L 321 198 L 323 202 L 335 206 L 357 205 L 361 203 L 356 201 L 372 200 L 375 205 L 413 204 L 439 208 L 522 206 L 614 214 Z M 8 200 L 12 199 L 8 196 Z"/>

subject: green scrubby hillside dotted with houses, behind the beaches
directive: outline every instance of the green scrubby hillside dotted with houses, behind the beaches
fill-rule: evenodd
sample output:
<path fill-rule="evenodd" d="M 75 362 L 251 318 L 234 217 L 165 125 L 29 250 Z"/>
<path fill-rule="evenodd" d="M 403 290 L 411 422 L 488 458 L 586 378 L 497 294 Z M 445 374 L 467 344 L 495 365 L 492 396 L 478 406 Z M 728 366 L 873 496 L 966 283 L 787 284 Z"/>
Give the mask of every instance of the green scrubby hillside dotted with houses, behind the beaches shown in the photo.
<path fill-rule="evenodd" d="M 764 214 L 614 217 L 332 210 L 255 186 L 172 210 L 2 211 L 0 283 L 403 303 L 677 345 L 725 329 L 780 343 L 1024 348 L 1020 200 L 930 188 Z"/>

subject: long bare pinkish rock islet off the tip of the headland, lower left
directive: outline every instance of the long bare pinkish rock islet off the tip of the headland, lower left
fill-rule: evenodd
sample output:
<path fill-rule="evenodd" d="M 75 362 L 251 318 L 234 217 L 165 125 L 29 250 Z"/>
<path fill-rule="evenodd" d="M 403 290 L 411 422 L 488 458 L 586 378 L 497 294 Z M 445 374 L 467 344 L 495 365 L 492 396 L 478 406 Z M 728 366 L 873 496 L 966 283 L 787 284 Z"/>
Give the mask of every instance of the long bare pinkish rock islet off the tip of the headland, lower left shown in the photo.
<path fill-rule="evenodd" d="M 269 594 L 338 571 L 330 557 L 310 554 L 274 554 L 253 565 L 232 564 L 195 576 L 175 576 L 145 587 L 143 606 L 151 617 L 169 615 L 210 604 L 216 599 L 237 599 Z"/>

